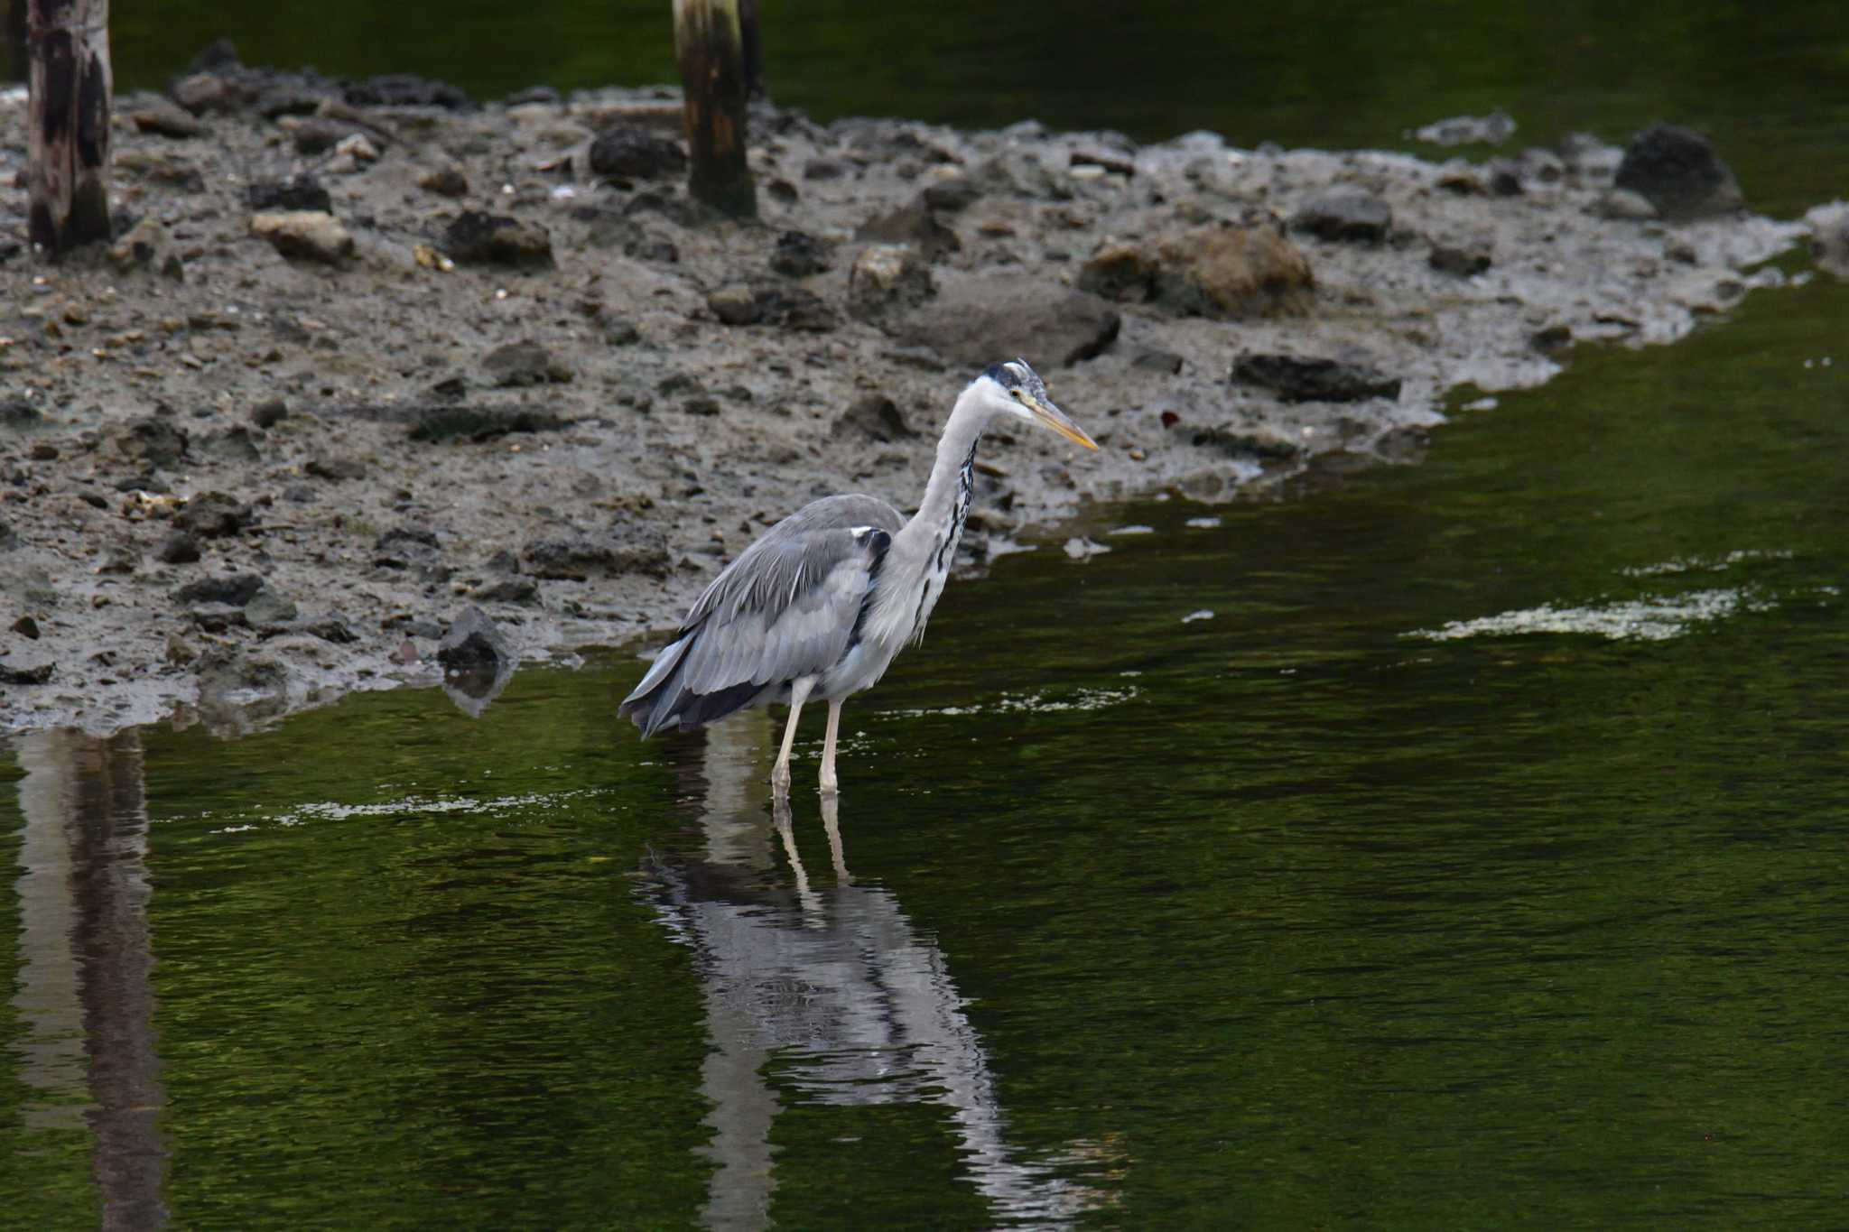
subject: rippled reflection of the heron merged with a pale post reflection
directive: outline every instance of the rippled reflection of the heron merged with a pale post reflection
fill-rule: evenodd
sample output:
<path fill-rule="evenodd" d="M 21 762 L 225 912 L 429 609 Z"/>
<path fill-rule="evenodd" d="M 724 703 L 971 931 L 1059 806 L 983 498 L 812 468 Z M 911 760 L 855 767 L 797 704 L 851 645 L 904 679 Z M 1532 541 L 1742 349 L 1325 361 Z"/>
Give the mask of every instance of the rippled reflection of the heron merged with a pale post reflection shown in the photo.
<path fill-rule="evenodd" d="M 782 792 L 765 824 L 760 754 L 745 746 L 758 731 L 767 743 L 762 722 L 710 730 L 704 859 L 651 868 L 656 911 L 695 951 L 706 1007 L 701 1092 L 712 1105 L 704 1154 L 716 1167 L 703 1225 L 767 1226 L 771 1125 L 791 1093 L 825 1106 L 947 1108 L 965 1178 L 997 1223 L 1065 1226 L 1098 1206 L 1102 1195 L 1069 1175 L 1096 1166 L 1087 1151 L 1028 1160 L 1008 1141 L 989 1058 L 945 955 L 891 890 L 854 883 L 838 798 L 821 796 L 832 877 L 804 868 Z M 775 868 L 773 840 L 788 876 Z"/>

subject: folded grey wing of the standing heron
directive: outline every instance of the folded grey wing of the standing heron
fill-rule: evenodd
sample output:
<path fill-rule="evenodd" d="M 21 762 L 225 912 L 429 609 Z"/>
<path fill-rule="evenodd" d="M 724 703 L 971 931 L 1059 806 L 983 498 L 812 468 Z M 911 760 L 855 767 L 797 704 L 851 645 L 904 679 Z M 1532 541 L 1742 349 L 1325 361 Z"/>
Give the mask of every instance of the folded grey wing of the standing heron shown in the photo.
<path fill-rule="evenodd" d="M 782 683 L 841 661 L 886 534 L 849 526 L 765 536 L 719 574 L 688 621 L 680 685 Z"/>

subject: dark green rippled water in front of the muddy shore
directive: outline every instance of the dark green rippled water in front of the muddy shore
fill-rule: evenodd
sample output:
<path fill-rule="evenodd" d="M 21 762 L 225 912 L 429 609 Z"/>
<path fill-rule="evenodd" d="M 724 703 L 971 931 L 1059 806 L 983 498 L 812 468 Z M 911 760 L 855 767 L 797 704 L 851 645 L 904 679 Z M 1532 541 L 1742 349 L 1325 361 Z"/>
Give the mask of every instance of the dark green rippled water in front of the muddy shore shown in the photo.
<path fill-rule="evenodd" d="M 1122 510 L 847 711 L 30 737 L 0 1193 L 181 1226 L 1827 1225 L 1849 292 Z M 1808 364 L 1806 364 L 1808 360 Z M 828 822 L 834 820 L 830 831 Z M 76 872 L 72 872 L 72 861 Z M 85 872 L 87 870 L 87 872 Z"/>

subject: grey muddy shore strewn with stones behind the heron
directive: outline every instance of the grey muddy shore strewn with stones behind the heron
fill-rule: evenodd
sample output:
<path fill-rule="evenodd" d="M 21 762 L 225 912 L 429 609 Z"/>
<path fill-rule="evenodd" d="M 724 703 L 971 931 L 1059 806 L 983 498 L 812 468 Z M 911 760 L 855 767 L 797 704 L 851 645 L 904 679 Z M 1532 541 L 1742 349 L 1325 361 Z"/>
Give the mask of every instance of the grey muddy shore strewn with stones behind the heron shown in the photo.
<path fill-rule="evenodd" d="M 1120 501 L 1405 462 L 1459 386 L 1673 342 L 1805 236 L 1673 127 L 1464 161 L 769 107 L 741 223 L 688 199 L 671 91 L 471 105 L 220 50 L 116 100 L 120 238 L 44 264 L 24 111 L 0 731 L 237 731 L 671 626 L 804 501 L 915 499 L 1015 355 L 1102 451 L 993 434 L 965 567 Z"/>

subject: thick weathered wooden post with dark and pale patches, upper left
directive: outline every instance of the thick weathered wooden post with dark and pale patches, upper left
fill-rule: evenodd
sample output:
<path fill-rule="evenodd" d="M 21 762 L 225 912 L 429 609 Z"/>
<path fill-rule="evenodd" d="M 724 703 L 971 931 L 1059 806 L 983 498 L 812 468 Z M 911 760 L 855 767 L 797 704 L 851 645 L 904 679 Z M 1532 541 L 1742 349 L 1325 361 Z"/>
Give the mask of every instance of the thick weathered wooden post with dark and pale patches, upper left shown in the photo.
<path fill-rule="evenodd" d="M 28 231 L 50 257 L 109 238 L 109 0 L 30 0 Z"/>

